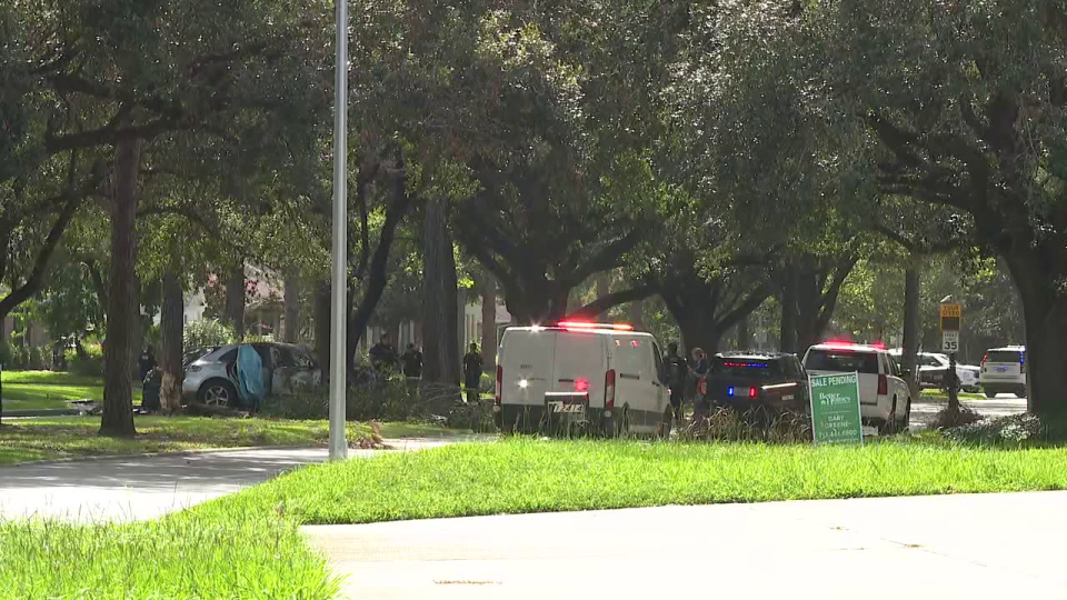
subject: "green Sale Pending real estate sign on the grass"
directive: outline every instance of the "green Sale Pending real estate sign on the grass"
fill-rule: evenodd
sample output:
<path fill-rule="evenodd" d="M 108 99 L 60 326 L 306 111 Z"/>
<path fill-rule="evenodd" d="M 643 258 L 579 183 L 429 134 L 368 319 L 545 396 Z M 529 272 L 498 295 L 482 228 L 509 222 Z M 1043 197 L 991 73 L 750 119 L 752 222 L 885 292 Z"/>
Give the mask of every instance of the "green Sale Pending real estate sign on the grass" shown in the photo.
<path fill-rule="evenodd" d="M 815 443 L 862 443 L 859 373 L 809 376 Z"/>

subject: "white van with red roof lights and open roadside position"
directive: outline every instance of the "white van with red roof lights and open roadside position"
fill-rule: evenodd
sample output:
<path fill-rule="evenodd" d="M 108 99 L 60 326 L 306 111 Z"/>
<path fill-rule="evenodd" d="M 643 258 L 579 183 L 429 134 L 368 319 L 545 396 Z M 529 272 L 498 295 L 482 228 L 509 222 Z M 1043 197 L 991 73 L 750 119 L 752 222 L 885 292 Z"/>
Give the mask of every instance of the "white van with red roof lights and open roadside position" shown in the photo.
<path fill-rule="evenodd" d="M 505 431 L 580 426 L 608 436 L 670 431 L 662 353 L 625 324 L 510 327 L 500 340 L 495 418 Z"/>

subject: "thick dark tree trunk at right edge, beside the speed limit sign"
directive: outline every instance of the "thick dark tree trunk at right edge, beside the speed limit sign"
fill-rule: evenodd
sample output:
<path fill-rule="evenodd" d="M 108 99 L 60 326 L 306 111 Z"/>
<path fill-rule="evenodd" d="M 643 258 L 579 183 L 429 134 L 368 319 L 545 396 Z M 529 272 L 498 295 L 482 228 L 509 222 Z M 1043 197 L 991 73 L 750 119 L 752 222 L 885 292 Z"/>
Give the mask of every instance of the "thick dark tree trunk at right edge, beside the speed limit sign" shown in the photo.
<path fill-rule="evenodd" d="M 1067 298 L 1033 253 L 1008 256 L 1026 321 L 1027 410 L 1059 418 L 1067 413 Z M 965 316 L 966 317 L 966 316 Z"/>

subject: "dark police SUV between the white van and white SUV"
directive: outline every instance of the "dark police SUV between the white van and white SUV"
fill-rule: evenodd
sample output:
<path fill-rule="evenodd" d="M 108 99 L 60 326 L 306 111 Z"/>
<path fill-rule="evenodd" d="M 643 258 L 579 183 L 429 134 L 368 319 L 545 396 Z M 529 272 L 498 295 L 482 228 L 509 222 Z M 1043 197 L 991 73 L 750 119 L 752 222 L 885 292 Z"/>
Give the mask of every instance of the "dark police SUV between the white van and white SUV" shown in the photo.
<path fill-rule="evenodd" d="M 716 354 L 708 396 L 715 404 L 741 413 L 810 411 L 808 376 L 796 354 Z"/>

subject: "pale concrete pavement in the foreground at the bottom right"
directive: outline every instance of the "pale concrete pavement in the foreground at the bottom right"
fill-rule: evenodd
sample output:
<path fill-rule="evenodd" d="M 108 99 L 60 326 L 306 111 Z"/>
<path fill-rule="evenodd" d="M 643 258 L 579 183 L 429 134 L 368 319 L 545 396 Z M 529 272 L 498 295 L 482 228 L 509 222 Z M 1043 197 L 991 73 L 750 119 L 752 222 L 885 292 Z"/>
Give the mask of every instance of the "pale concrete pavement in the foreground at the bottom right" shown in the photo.
<path fill-rule="evenodd" d="M 664 507 L 305 530 L 348 598 L 1067 596 L 1067 492 Z"/>

